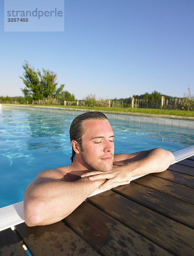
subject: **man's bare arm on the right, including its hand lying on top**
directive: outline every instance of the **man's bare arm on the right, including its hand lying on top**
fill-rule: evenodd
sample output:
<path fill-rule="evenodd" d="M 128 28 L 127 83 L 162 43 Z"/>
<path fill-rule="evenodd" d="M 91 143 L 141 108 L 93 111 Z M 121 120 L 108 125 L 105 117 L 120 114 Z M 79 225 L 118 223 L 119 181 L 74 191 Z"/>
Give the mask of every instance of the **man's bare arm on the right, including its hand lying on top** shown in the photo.
<path fill-rule="evenodd" d="M 88 172 L 81 177 L 88 177 L 89 180 L 108 179 L 99 188 L 110 189 L 128 184 L 128 180 L 134 176 L 165 171 L 174 161 L 174 155 L 162 148 L 154 148 L 134 154 L 117 154 L 114 160 L 118 166 L 110 172 Z"/>

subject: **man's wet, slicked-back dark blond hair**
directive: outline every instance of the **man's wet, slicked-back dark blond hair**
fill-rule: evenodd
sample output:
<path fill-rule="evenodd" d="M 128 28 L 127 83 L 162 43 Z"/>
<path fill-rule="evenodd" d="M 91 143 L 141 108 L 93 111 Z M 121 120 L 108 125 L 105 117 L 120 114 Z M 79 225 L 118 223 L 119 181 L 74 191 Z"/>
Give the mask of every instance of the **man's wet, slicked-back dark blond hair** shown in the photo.
<path fill-rule="evenodd" d="M 82 148 L 82 135 L 83 135 L 83 126 L 82 123 L 84 120 L 88 119 L 101 119 L 101 120 L 108 120 L 108 118 L 101 112 L 98 111 L 91 111 L 83 113 L 79 116 L 77 116 L 71 123 L 70 129 L 69 129 L 69 135 L 70 140 L 76 140 L 77 143 L 80 144 L 80 147 Z M 72 155 L 71 155 L 71 163 L 73 163 L 75 157 L 75 151 L 72 147 Z"/>

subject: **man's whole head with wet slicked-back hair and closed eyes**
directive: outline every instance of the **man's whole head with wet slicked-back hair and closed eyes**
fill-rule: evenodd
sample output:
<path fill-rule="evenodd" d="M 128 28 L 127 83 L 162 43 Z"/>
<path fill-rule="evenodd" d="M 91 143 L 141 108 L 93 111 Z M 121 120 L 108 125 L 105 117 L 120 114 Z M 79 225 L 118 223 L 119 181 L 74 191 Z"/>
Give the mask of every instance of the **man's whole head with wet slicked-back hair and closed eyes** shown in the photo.
<path fill-rule="evenodd" d="M 72 145 L 71 162 L 77 153 L 84 165 L 90 169 L 111 169 L 114 134 L 103 113 L 87 112 L 77 116 L 71 123 L 69 133 Z"/>

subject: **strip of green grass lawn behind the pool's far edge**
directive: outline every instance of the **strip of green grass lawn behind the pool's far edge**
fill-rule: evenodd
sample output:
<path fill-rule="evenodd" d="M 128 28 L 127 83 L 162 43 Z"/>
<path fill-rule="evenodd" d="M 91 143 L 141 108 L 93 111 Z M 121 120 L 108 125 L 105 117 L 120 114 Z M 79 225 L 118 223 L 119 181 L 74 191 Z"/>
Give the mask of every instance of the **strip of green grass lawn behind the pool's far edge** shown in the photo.
<path fill-rule="evenodd" d="M 168 118 L 181 118 L 181 119 L 193 119 L 194 111 L 183 110 L 170 110 L 170 109 L 156 109 L 156 108 L 113 108 L 113 107 L 82 107 L 82 106 L 64 106 L 64 105 L 33 105 L 28 106 L 38 107 L 57 107 L 57 108 L 71 108 L 71 109 L 84 109 L 84 110 L 98 110 L 103 112 L 120 113 L 120 114 L 134 114 L 143 116 L 159 116 L 165 115 Z M 187 118 L 188 117 L 188 118 Z M 190 117 L 190 118 L 189 118 Z M 193 118 L 192 118 L 193 117 Z"/>

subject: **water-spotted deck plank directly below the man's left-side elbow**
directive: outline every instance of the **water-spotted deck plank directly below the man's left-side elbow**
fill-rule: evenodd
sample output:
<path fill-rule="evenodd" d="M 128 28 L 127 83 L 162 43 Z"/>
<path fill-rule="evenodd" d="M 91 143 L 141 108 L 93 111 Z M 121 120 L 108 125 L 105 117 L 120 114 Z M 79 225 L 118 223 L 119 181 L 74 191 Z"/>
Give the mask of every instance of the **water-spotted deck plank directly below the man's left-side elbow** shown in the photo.
<path fill-rule="evenodd" d="M 99 256 L 89 244 L 77 236 L 63 221 L 39 227 L 27 227 L 25 223 L 21 223 L 16 226 L 16 231 L 22 237 L 29 251 L 35 256 Z"/>

